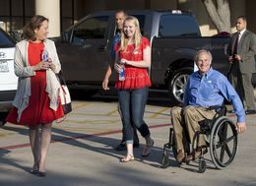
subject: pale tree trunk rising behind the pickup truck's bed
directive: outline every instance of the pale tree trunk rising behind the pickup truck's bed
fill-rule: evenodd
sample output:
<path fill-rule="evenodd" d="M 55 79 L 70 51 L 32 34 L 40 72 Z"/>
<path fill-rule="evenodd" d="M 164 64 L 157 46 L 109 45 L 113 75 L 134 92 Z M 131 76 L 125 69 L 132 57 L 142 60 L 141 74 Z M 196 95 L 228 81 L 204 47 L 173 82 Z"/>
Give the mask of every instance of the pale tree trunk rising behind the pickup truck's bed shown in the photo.
<path fill-rule="evenodd" d="M 215 24 L 217 31 L 231 32 L 230 10 L 228 0 L 202 0 L 206 10 Z"/>

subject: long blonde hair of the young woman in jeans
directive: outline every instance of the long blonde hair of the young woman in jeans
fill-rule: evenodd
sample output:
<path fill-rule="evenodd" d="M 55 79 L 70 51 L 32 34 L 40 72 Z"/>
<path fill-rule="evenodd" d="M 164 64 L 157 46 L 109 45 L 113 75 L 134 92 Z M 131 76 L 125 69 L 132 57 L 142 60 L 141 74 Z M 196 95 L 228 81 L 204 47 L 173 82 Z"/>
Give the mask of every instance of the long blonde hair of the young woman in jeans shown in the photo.
<path fill-rule="evenodd" d="M 140 24 L 137 18 L 133 17 L 133 16 L 128 16 L 123 24 L 125 24 L 125 22 L 132 22 L 135 26 L 135 34 L 134 34 L 134 44 L 135 44 L 135 48 L 134 50 L 137 50 L 142 42 L 142 33 L 140 30 Z M 124 31 L 121 31 L 121 45 L 119 50 L 120 51 L 125 51 L 128 45 L 128 37 L 127 35 L 124 33 Z"/>

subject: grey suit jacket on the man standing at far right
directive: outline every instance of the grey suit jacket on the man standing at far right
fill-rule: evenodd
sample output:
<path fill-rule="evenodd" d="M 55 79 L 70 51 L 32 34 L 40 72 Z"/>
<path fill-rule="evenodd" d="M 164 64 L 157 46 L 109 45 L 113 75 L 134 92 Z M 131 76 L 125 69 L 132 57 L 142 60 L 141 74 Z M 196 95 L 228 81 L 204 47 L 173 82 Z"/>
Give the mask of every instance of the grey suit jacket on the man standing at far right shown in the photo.
<path fill-rule="evenodd" d="M 238 31 L 231 35 L 230 42 L 227 47 L 227 54 L 233 54 L 235 38 Z M 241 56 L 238 62 L 241 73 L 254 73 L 255 72 L 255 54 L 256 54 L 256 34 L 251 31 L 244 31 L 238 46 L 237 54 Z"/>

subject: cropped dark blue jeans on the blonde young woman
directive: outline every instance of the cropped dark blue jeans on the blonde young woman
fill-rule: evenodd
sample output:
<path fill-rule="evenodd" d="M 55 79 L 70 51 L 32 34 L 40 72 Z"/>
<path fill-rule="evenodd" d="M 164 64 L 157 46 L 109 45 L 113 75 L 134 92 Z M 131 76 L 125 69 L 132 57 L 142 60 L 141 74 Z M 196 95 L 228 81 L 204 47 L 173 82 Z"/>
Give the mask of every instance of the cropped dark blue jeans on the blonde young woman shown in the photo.
<path fill-rule="evenodd" d="M 124 139 L 126 144 L 133 143 L 132 124 L 144 138 L 151 134 L 148 125 L 143 120 L 148 94 L 148 88 L 118 91 L 118 101 L 122 113 Z"/>

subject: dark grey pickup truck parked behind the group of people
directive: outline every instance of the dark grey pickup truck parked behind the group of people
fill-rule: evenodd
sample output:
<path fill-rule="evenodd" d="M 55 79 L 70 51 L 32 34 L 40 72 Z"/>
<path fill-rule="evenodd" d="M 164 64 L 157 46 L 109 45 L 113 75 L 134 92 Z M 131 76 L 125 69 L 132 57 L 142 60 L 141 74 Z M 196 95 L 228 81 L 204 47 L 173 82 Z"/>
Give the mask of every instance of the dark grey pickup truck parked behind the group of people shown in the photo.
<path fill-rule="evenodd" d="M 151 89 L 167 91 L 172 103 L 182 100 L 197 50 L 211 50 L 213 67 L 227 75 L 229 63 L 225 47 L 229 36 L 201 36 L 195 17 L 179 10 L 133 10 L 127 13 L 138 18 L 142 34 L 152 43 Z M 62 39 L 56 41 L 70 89 L 90 93 L 101 89 L 106 68 L 113 63 L 110 50 L 115 30 L 115 12 L 97 12 L 64 31 Z M 111 76 L 109 85 L 114 85 L 115 78 L 116 75 Z"/>

